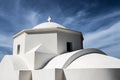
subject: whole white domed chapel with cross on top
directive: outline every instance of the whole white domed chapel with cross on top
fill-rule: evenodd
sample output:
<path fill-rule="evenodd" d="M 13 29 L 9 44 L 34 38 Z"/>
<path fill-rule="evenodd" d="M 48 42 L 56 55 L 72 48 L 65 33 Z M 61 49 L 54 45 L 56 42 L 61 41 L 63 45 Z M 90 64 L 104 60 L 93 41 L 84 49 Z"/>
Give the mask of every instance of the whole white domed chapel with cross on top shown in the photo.
<path fill-rule="evenodd" d="M 95 48 L 83 49 L 81 32 L 50 17 L 13 40 L 13 55 L 0 63 L 0 80 L 120 80 L 120 59 Z"/>

